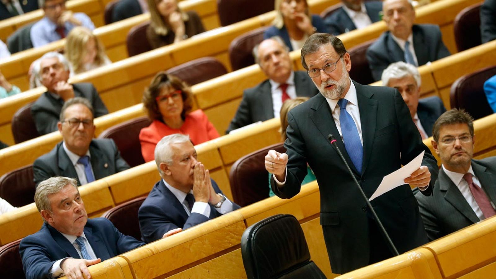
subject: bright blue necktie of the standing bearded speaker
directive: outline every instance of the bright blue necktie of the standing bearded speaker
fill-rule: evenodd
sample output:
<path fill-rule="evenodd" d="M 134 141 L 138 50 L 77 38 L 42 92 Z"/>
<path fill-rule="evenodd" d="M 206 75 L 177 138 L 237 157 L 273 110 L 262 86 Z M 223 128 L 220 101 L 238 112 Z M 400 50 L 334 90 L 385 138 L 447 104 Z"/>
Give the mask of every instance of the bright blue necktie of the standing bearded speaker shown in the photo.
<path fill-rule="evenodd" d="M 344 146 L 346 152 L 351 158 L 353 165 L 362 173 L 362 158 L 364 155 L 364 147 L 360 141 L 360 135 L 358 135 L 358 129 L 355 125 L 355 121 L 351 115 L 346 111 L 346 104 L 348 100 L 340 99 L 338 101 L 339 108 L 341 112 L 339 113 L 339 124 L 341 125 L 341 133 L 343 134 Z"/>

